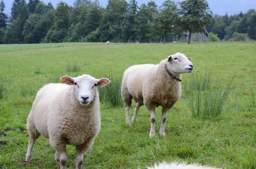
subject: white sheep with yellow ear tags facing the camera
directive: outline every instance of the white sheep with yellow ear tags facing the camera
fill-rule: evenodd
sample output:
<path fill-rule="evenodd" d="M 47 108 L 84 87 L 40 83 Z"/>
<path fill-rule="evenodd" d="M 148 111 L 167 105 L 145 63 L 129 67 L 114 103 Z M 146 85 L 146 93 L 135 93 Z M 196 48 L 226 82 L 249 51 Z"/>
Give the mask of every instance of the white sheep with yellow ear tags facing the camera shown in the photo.
<path fill-rule="evenodd" d="M 30 162 L 36 139 L 49 138 L 56 150 L 55 160 L 61 168 L 67 164 L 66 145 L 76 146 L 76 168 L 81 168 L 83 155 L 100 131 L 100 103 L 97 86 L 104 87 L 109 79 L 95 79 L 89 75 L 76 78 L 63 76 L 61 83 L 42 87 L 35 98 L 27 119 L 29 132 L 26 161 Z"/>

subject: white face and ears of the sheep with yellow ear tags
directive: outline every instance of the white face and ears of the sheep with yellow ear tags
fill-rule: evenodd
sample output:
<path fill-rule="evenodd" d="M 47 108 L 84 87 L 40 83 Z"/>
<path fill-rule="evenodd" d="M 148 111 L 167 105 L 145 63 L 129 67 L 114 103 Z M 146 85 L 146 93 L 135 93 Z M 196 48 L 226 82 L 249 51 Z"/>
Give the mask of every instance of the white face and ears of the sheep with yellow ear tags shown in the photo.
<path fill-rule="evenodd" d="M 104 87 L 110 83 L 107 78 L 95 79 L 90 75 L 82 75 L 76 78 L 63 76 L 60 80 L 64 81 L 65 84 L 74 85 L 76 100 L 82 106 L 87 106 L 93 101 L 97 86 Z"/>

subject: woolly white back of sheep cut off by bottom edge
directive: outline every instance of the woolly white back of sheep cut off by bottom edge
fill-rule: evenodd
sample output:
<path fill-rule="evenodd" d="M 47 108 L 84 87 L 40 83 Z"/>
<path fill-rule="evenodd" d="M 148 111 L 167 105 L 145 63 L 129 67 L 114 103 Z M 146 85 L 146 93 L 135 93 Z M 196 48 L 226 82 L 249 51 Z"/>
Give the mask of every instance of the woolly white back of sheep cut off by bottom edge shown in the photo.
<path fill-rule="evenodd" d="M 147 168 L 148 169 L 217 169 L 216 167 L 201 166 L 199 164 L 179 163 L 176 161 L 172 163 L 162 162 L 159 164 L 155 164 L 154 167 L 147 167 Z"/>

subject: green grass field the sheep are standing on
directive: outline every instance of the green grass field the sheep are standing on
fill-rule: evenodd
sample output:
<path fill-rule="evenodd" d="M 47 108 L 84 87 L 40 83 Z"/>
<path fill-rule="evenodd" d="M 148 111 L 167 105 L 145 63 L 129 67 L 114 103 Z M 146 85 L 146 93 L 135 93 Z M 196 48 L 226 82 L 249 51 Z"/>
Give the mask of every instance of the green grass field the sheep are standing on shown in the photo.
<path fill-rule="evenodd" d="M 253 107 L 256 43 L 77 43 L 79 46 L 51 47 L 55 44 L 48 44 L 49 48 L 42 45 L 37 44 L 35 48 L 32 45 L 27 48 L 26 45 L 0 46 L 0 85 L 1 77 L 2 82 L 5 80 L 5 92 L 0 99 L 0 131 L 3 131 L 0 141 L 2 144 L 8 141 L 0 146 L 0 168 L 59 168 L 59 162 L 54 160 L 54 149 L 43 137 L 37 140 L 33 149 L 32 161 L 36 163 L 22 162 L 28 145 L 28 133 L 23 133 L 26 119 L 36 92 L 45 84 L 57 82 L 64 75 L 122 76 L 129 66 L 158 64 L 176 52 L 192 58 L 195 68 L 192 74 L 210 71 L 213 88 L 218 89 L 234 76 L 237 85 L 228 96 L 222 113 L 208 120 L 192 117 L 190 96 L 183 92 L 168 112 L 166 137 L 158 134 L 161 108 L 156 109 L 156 137 L 150 139 L 150 113 L 145 106 L 130 127 L 125 123 L 123 106 L 113 108 L 101 102 L 101 131 L 84 156 L 83 168 L 144 168 L 158 161 L 173 160 L 223 168 L 256 168 L 256 112 Z M 80 70 L 72 72 L 68 65 L 76 65 Z M 189 88 L 190 76 L 184 74 L 182 77 L 183 91 Z M 111 77 L 106 78 L 114 83 Z M 130 118 L 134 106 L 133 102 Z M 75 147 L 67 146 L 67 151 L 67 168 L 74 168 Z"/>

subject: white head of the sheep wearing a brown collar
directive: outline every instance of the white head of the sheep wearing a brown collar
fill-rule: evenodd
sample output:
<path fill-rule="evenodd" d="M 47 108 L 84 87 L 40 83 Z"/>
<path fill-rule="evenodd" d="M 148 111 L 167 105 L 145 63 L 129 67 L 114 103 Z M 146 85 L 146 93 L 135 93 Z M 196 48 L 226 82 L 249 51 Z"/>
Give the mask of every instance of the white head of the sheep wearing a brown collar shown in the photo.
<path fill-rule="evenodd" d="M 179 75 L 182 73 L 191 73 L 193 70 L 193 64 L 190 62 L 191 58 L 186 57 L 182 53 L 176 53 L 168 56 L 167 67 L 173 75 Z"/>

